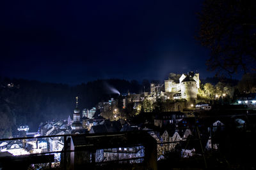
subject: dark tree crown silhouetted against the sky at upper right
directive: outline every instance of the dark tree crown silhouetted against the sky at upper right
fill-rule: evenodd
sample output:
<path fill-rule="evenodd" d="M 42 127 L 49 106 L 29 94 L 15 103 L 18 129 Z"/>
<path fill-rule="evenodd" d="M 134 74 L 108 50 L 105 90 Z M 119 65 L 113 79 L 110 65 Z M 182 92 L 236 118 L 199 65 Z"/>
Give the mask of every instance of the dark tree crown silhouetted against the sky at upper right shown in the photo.
<path fill-rule="evenodd" d="M 216 75 L 256 71 L 256 1 L 205 0 L 196 37 L 211 51 L 209 71 Z"/>

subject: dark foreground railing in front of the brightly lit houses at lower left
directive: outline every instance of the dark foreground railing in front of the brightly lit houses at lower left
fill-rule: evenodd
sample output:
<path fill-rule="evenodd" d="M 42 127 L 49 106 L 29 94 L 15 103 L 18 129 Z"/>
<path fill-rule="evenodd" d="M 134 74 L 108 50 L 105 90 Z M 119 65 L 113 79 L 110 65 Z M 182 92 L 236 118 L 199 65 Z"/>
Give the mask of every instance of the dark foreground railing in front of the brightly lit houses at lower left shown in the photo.
<path fill-rule="evenodd" d="M 36 137 L 26 137 L 26 138 L 10 138 L 10 139 L 0 139 L 0 141 L 23 141 L 23 143 L 29 143 L 29 141 L 38 141 L 39 139 L 47 139 L 47 150 L 42 150 L 40 153 L 29 153 L 25 155 L 16 155 L 16 156 L 5 156 L 0 157 L 0 163 L 2 167 L 17 167 L 19 169 L 27 169 L 31 164 L 49 164 L 49 168 L 52 167 L 53 162 L 59 162 L 61 169 L 69 169 L 70 166 L 77 166 L 72 163 L 72 160 L 77 162 L 81 155 L 84 155 L 88 151 L 90 152 L 90 159 L 85 164 L 91 164 L 93 166 L 97 165 L 106 165 L 106 164 L 114 164 L 118 162 L 118 164 L 145 164 L 145 162 L 149 159 L 156 160 L 156 155 L 154 158 L 151 158 L 151 152 L 154 153 L 154 147 L 156 147 L 155 141 L 148 141 L 147 139 L 143 139 L 143 135 L 145 136 L 147 132 L 117 132 L 117 133 L 109 133 L 109 134 L 61 134 L 61 135 L 51 135 L 51 136 L 36 136 Z M 141 135 L 143 134 L 143 135 Z M 132 136 L 134 139 L 132 141 Z M 141 137 L 140 137 L 141 136 Z M 148 134 L 149 136 L 149 134 Z M 49 145 L 53 145 L 49 143 L 51 138 L 63 138 L 63 148 L 61 150 L 49 150 Z M 97 141 L 97 145 L 95 143 L 91 143 L 90 145 L 77 145 L 75 146 L 75 142 L 72 141 L 75 138 L 84 138 L 88 141 L 93 142 Z M 151 138 L 151 137 L 150 137 Z M 109 141 L 109 139 L 111 139 Z M 116 143 L 118 140 L 123 140 L 123 143 Z M 127 141 L 125 141 L 127 139 Z M 108 141 L 106 141 L 108 140 Z M 109 143 L 108 143 L 109 142 Z M 111 143 L 112 142 L 112 143 Z M 74 145 L 74 146 L 73 146 Z M 72 148 L 73 146 L 73 148 Z M 140 153 L 129 153 L 127 148 L 131 150 L 131 148 L 138 148 L 143 146 L 143 152 Z M 35 148 L 35 147 L 34 147 Z M 107 155 L 104 152 L 104 149 L 115 148 L 115 152 L 111 150 L 109 155 L 113 155 L 110 159 L 104 159 L 104 156 Z M 125 151 L 124 151 L 125 148 Z M 122 150 L 120 150 L 122 149 Z M 13 148 L 15 150 L 15 148 Z M 98 153 L 97 157 L 95 154 L 97 151 L 101 151 Z M 141 150 L 141 148 L 140 148 Z M 60 159 L 56 161 L 56 156 L 58 154 Z M 132 155 L 131 157 L 129 155 Z M 147 161 L 145 161 L 147 160 Z M 152 161 L 151 161 L 152 162 Z M 154 161 L 153 161 L 154 162 Z M 156 161 L 155 161 L 156 162 Z M 79 162 L 79 164 L 82 164 Z M 83 163 L 84 164 L 84 163 Z M 10 168 L 8 168 L 10 169 Z M 72 169 L 72 168 L 71 168 Z M 74 168 L 76 169 L 76 168 Z M 153 168 L 154 169 L 154 168 Z"/>

